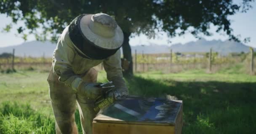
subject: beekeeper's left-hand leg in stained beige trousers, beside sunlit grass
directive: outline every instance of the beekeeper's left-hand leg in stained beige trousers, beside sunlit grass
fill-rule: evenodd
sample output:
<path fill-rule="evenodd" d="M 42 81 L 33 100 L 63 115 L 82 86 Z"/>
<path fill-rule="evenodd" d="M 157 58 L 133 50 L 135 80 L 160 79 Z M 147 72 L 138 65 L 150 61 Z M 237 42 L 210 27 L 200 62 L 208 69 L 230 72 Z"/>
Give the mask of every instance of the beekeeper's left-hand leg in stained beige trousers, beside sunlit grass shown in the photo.
<path fill-rule="evenodd" d="M 55 74 L 48 77 L 51 104 L 56 119 L 56 134 L 78 134 L 75 124 L 76 94 L 58 81 Z"/>

